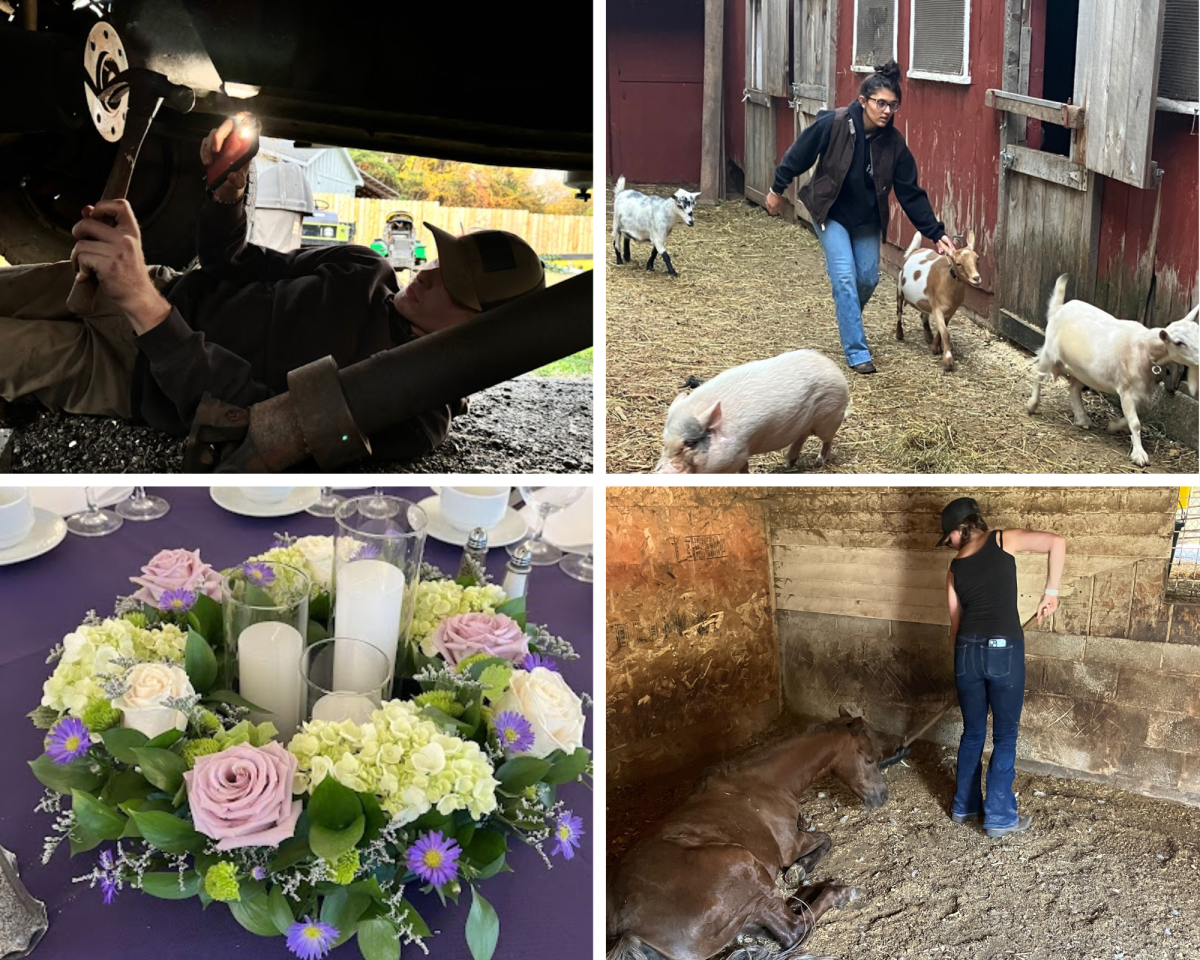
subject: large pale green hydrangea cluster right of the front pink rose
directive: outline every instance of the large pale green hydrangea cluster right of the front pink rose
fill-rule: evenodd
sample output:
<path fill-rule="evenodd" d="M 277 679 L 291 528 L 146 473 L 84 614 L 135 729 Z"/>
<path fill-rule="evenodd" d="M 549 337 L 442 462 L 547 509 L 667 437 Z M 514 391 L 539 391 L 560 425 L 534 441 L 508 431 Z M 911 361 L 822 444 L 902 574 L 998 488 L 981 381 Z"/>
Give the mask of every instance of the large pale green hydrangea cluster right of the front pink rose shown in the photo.
<path fill-rule="evenodd" d="M 296 792 L 311 792 L 332 775 L 376 794 L 400 823 L 434 806 L 443 816 L 466 809 L 475 820 L 496 809 L 497 781 L 479 744 L 443 733 L 410 701 L 388 701 L 361 726 L 310 721 L 288 750 L 299 760 Z"/>

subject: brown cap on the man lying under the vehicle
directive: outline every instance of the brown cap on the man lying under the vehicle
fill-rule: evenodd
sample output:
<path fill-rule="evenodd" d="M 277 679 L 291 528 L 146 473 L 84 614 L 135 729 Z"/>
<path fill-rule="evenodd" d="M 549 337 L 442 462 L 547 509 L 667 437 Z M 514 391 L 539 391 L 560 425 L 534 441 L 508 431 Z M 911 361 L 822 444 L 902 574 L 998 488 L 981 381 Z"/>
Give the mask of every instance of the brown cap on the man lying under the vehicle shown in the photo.
<path fill-rule="evenodd" d="M 438 247 L 446 293 L 472 310 L 491 310 L 546 286 L 541 260 L 524 240 L 505 230 L 454 236 L 425 224 Z"/>

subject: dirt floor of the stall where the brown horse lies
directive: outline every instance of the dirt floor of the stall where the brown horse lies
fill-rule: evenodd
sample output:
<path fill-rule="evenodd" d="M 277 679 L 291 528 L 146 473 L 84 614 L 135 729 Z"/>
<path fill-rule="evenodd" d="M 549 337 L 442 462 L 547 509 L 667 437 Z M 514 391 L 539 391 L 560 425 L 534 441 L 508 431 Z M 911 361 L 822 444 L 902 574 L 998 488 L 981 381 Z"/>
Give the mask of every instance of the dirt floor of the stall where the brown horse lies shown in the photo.
<path fill-rule="evenodd" d="M 785 714 L 758 746 L 800 732 Z M 746 752 L 739 750 L 739 755 Z M 832 910 L 805 949 L 840 960 L 1196 960 L 1200 809 L 1018 770 L 1030 833 L 989 839 L 949 818 L 954 751 L 918 743 L 868 810 L 827 776 L 800 802 L 833 851 L 811 882 L 866 896 Z M 608 791 L 607 869 L 688 796 L 700 769 Z"/>

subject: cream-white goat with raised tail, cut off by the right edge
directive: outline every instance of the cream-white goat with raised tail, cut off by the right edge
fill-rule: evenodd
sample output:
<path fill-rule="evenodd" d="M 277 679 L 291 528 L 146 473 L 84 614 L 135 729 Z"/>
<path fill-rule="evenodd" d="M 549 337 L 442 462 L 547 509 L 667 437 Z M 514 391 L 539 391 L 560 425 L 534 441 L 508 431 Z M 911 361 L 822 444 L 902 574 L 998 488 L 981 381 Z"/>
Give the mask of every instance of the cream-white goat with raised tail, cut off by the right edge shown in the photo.
<path fill-rule="evenodd" d="M 1055 283 L 1046 313 L 1046 340 L 1038 352 L 1033 376 L 1033 394 L 1027 409 L 1036 413 L 1042 380 L 1066 377 L 1070 382 L 1070 407 L 1075 426 L 1093 426 L 1084 409 L 1084 386 L 1121 398 L 1118 420 L 1109 422 L 1109 433 L 1126 427 L 1133 438 L 1129 460 L 1139 467 L 1150 463 L 1141 445 L 1141 421 L 1138 408 L 1145 406 L 1154 390 L 1154 367 L 1166 362 L 1183 364 L 1188 368 L 1188 391 L 1196 395 L 1198 316 L 1193 308 L 1182 320 L 1166 328 L 1150 330 L 1136 320 L 1120 320 L 1099 307 L 1082 300 L 1063 302 L 1067 275 Z"/>

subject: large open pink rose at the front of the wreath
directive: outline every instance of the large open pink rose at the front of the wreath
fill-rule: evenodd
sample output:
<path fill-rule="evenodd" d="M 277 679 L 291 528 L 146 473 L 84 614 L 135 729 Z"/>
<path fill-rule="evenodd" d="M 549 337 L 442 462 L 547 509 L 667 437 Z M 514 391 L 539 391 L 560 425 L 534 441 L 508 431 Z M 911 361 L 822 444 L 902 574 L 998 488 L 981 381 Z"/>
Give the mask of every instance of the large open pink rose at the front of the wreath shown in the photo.
<path fill-rule="evenodd" d="M 292 799 L 299 761 L 278 743 L 240 743 L 196 758 L 184 774 L 196 829 L 217 850 L 274 847 L 295 833 L 302 804 Z"/>

